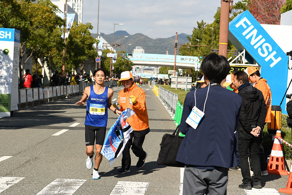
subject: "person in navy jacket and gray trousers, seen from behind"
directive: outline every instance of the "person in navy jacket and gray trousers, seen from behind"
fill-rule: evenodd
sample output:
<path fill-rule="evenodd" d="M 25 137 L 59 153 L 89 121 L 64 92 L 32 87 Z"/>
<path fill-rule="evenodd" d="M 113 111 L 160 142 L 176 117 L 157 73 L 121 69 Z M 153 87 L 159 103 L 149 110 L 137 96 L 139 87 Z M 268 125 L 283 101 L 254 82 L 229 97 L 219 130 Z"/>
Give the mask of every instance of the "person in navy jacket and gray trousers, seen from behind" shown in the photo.
<path fill-rule="evenodd" d="M 229 69 L 224 56 L 209 54 L 201 65 L 207 86 L 185 97 L 179 126 L 185 137 L 176 158 L 185 164 L 183 194 L 226 194 L 228 168 L 237 165 L 234 131 L 241 96 L 223 88 Z M 186 122 L 195 105 L 204 112 L 196 129 Z"/>

